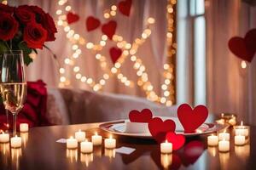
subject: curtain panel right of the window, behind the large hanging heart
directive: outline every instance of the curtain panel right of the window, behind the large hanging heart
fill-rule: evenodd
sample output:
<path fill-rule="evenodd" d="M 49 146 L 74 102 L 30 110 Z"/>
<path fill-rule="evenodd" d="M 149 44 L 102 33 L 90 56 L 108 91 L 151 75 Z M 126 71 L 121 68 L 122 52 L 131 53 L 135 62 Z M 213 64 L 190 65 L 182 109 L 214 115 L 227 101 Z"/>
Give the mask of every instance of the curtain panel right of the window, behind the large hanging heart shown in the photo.
<path fill-rule="evenodd" d="M 239 120 L 255 125 L 256 59 L 242 69 L 228 41 L 256 28 L 256 8 L 241 0 L 207 0 L 206 14 L 208 106 L 212 112 L 236 113 Z"/>

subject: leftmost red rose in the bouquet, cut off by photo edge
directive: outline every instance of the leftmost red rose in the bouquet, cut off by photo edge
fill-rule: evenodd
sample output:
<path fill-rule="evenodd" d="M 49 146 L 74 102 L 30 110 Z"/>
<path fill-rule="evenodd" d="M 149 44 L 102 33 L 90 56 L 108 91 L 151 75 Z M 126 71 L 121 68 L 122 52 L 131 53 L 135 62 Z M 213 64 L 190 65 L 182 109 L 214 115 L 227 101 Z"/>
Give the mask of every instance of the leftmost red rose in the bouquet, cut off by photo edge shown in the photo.
<path fill-rule="evenodd" d="M 12 39 L 19 29 L 19 23 L 11 14 L 0 13 L 0 16 L 0 39 Z"/>

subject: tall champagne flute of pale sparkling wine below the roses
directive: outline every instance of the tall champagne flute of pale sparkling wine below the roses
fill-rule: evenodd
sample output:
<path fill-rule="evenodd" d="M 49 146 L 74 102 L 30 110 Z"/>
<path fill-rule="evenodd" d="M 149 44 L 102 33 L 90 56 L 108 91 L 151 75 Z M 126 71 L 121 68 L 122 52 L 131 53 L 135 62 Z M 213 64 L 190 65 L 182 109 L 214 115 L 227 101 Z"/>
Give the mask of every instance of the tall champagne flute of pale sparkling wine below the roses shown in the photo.
<path fill-rule="evenodd" d="M 10 50 L 3 54 L 1 71 L 1 94 L 6 110 L 13 114 L 13 135 L 16 135 L 16 117 L 26 100 L 26 75 L 21 50 Z"/>

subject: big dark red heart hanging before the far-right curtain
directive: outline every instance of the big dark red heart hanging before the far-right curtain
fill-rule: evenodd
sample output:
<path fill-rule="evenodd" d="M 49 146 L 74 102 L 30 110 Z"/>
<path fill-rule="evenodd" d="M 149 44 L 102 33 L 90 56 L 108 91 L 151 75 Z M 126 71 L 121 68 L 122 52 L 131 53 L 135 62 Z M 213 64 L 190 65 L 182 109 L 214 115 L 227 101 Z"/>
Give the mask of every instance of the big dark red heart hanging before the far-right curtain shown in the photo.
<path fill-rule="evenodd" d="M 230 51 L 240 59 L 251 62 L 256 53 L 256 29 L 247 31 L 244 38 L 232 37 L 229 41 Z"/>

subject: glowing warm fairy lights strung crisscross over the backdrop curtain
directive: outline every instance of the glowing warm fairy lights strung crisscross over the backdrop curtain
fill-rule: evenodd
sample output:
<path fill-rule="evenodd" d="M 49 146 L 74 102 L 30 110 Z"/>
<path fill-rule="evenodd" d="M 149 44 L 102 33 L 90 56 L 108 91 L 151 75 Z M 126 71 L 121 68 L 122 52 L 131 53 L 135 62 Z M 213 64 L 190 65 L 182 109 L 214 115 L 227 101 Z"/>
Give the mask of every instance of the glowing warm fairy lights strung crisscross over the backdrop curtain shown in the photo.
<path fill-rule="evenodd" d="M 174 65 L 172 62 L 174 61 L 174 55 L 176 53 L 176 42 L 174 42 L 174 6 L 176 4 L 176 0 L 169 0 L 167 5 L 167 34 L 166 34 L 166 42 L 167 42 L 167 59 L 166 64 L 163 66 L 163 77 L 165 78 L 164 82 L 161 85 L 163 90 L 163 96 L 157 95 L 154 92 L 154 86 L 148 80 L 148 73 L 146 72 L 146 66 L 143 65 L 143 60 L 137 56 L 138 48 L 143 45 L 143 42 L 147 40 L 151 35 L 150 26 L 154 24 L 154 18 L 149 17 L 147 20 L 146 29 L 143 30 L 141 37 L 137 37 L 134 42 L 129 43 L 124 40 L 123 37 L 119 35 L 113 35 L 113 42 L 116 42 L 116 46 L 122 49 L 122 54 L 120 58 L 114 63 L 113 67 L 109 68 L 107 59 L 104 55 L 101 54 L 102 49 L 106 46 L 108 37 L 106 35 L 102 35 L 101 41 L 97 43 L 87 42 L 84 37 L 81 37 L 78 33 L 76 33 L 70 26 L 67 24 L 66 13 L 72 11 L 72 7 L 68 5 L 67 0 L 59 0 L 58 5 L 59 8 L 56 10 L 56 14 L 58 15 L 57 25 L 62 26 L 64 31 L 66 32 L 67 39 L 72 44 L 73 54 L 71 56 L 67 56 L 64 59 L 64 65 L 70 66 L 74 72 L 74 75 L 77 80 L 86 83 L 92 88 L 94 91 L 101 90 L 104 85 L 107 83 L 109 77 L 116 76 L 119 82 L 124 83 L 125 86 L 133 88 L 135 86 L 135 82 L 129 80 L 128 77 L 120 71 L 121 66 L 124 64 L 127 56 L 130 56 L 131 62 L 133 62 L 133 69 L 137 71 L 137 85 L 142 88 L 145 92 L 147 99 L 160 102 L 166 105 L 172 105 L 175 101 L 175 88 L 174 88 Z M 61 9 L 62 8 L 62 9 Z M 114 17 L 117 14 L 117 7 L 112 5 L 110 9 L 107 9 L 104 12 L 104 18 L 109 19 Z M 76 64 L 76 59 L 82 54 L 82 50 L 80 47 L 85 47 L 90 50 L 93 54 L 95 54 L 95 58 L 99 61 L 102 71 L 104 74 L 100 77 L 99 81 L 96 82 L 92 77 L 86 77 L 80 72 L 80 67 Z M 171 62 L 171 65 L 169 64 Z M 66 76 L 66 69 L 64 66 L 60 68 L 60 87 L 65 87 L 70 84 L 69 79 Z"/>

